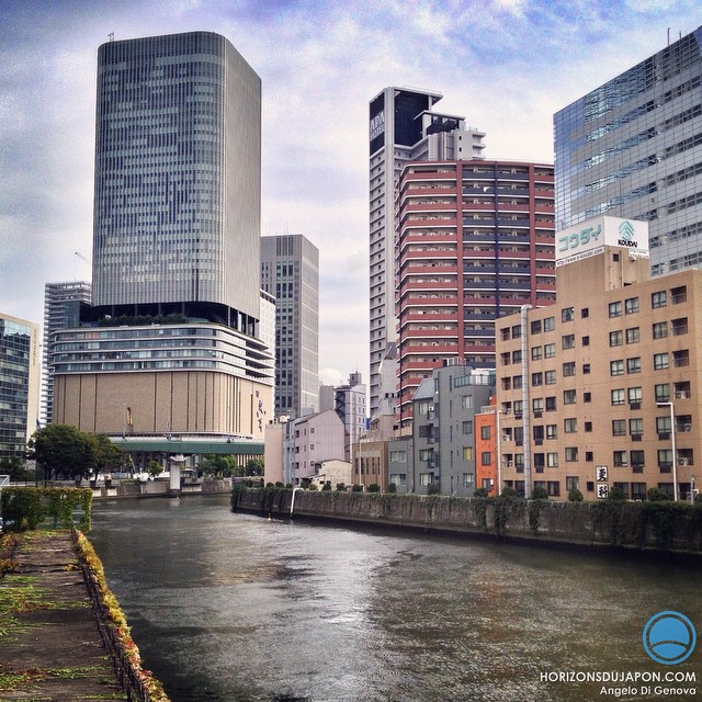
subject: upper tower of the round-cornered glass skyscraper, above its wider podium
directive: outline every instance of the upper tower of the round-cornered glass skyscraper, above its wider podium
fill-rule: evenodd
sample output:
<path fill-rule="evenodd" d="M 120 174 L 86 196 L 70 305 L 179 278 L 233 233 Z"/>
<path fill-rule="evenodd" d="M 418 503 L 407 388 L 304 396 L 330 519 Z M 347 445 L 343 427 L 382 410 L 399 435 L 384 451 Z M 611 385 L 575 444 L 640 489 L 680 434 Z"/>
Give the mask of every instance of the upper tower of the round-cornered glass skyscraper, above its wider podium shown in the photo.
<path fill-rule="evenodd" d="M 261 81 L 223 36 L 109 42 L 98 57 L 93 305 L 254 332 Z"/>

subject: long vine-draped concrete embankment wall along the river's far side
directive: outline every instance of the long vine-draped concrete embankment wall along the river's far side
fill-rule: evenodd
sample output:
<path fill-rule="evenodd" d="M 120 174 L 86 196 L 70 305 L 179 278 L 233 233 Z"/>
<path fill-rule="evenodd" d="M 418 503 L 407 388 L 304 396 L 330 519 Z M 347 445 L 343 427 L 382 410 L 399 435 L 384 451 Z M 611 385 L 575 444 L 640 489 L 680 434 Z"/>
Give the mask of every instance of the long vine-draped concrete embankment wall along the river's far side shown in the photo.
<path fill-rule="evenodd" d="M 234 509 L 291 513 L 293 490 L 242 489 Z M 387 524 L 473 536 L 702 555 L 702 505 L 552 502 L 373 492 L 294 492 L 294 517 Z"/>

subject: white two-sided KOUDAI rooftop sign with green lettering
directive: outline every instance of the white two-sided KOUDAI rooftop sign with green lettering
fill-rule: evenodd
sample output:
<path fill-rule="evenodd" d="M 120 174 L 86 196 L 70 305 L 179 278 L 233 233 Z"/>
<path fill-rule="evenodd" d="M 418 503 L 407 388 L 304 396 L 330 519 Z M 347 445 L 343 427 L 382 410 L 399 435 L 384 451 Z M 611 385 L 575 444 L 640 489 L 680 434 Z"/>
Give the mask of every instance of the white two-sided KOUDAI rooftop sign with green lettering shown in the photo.
<path fill-rule="evenodd" d="M 596 217 L 556 234 L 556 265 L 601 253 L 604 246 L 648 257 L 648 223 L 619 217 Z"/>

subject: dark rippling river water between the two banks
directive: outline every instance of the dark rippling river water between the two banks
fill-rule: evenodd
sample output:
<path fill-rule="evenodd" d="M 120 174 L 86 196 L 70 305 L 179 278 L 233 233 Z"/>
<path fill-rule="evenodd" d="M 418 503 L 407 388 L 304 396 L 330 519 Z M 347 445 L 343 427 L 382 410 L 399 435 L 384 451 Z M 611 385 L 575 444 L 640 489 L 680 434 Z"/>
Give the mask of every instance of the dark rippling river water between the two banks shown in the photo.
<path fill-rule="evenodd" d="M 228 496 L 97 501 L 90 540 L 172 702 L 702 695 L 701 644 L 676 666 L 642 645 L 663 610 L 702 637 L 699 567 L 267 521 Z M 697 682 L 652 680 L 672 672 Z"/>

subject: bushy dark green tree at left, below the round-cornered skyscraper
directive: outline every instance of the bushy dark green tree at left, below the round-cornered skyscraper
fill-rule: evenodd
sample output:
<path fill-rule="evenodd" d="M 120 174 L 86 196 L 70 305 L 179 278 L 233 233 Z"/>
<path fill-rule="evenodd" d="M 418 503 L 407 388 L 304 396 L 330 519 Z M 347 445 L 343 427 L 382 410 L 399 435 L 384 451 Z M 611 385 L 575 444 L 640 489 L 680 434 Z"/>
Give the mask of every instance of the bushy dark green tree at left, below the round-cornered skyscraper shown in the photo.
<path fill-rule="evenodd" d="M 87 477 L 95 467 L 94 438 L 70 424 L 48 424 L 32 434 L 27 457 L 43 466 L 48 479 Z"/>

